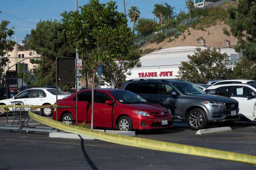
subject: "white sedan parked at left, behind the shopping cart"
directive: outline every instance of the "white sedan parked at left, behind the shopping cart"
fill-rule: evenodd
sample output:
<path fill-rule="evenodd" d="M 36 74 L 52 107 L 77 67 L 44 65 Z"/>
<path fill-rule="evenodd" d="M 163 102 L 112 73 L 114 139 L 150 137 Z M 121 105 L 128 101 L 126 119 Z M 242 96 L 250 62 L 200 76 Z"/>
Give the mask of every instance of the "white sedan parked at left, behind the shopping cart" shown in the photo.
<path fill-rule="evenodd" d="M 58 99 L 63 99 L 69 95 L 64 91 L 58 90 Z M 56 102 L 55 88 L 31 88 L 22 91 L 10 99 L 0 100 L 0 105 L 12 105 L 11 102 L 21 101 L 24 105 L 53 105 Z M 9 109 L 12 111 L 12 108 Z M 52 108 L 42 109 L 42 114 L 52 116 Z"/>

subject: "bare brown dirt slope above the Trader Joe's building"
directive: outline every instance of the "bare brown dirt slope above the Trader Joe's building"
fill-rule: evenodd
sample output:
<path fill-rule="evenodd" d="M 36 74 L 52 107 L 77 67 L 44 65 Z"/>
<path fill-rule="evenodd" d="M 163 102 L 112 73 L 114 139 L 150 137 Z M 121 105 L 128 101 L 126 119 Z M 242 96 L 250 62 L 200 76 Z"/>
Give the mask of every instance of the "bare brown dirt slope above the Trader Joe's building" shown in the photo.
<path fill-rule="evenodd" d="M 179 46 L 200 46 L 198 41 L 196 40 L 198 37 L 203 37 L 205 39 L 205 45 L 207 47 L 222 47 L 224 46 L 224 40 L 228 39 L 230 41 L 231 46 L 236 44 L 236 38 L 233 36 L 228 37 L 223 33 L 222 28 L 226 27 L 228 31 L 230 31 L 230 27 L 225 24 L 224 22 L 221 22 L 217 25 L 211 26 L 209 28 L 206 28 L 206 31 L 202 30 L 194 30 L 193 28 L 189 28 L 190 35 L 188 35 L 188 31 L 186 30 L 182 35 L 179 36 L 178 39 L 173 40 L 172 42 L 168 42 L 169 38 L 166 38 L 163 42 L 156 44 L 156 43 L 146 43 L 143 47 L 141 47 L 141 50 L 145 49 L 155 49 L 154 51 L 157 51 L 157 49 L 162 48 L 171 48 L 171 47 L 179 47 Z M 186 36 L 186 39 L 184 39 L 184 36 Z M 170 37 L 174 39 L 174 37 Z"/>

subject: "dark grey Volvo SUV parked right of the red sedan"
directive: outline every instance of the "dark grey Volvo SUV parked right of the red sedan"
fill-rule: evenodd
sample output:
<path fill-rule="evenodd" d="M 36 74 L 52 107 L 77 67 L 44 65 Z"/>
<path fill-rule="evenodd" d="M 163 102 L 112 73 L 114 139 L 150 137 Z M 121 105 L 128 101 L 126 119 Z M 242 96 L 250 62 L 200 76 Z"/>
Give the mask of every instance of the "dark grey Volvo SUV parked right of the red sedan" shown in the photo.
<path fill-rule="evenodd" d="M 202 129 L 210 122 L 240 119 L 236 100 L 206 94 L 184 80 L 130 80 L 119 88 L 135 92 L 151 103 L 170 109 L 175 120 L 188 122 L 193 130 Z M 231 107 L 233 104 L 234 107 Z"/>

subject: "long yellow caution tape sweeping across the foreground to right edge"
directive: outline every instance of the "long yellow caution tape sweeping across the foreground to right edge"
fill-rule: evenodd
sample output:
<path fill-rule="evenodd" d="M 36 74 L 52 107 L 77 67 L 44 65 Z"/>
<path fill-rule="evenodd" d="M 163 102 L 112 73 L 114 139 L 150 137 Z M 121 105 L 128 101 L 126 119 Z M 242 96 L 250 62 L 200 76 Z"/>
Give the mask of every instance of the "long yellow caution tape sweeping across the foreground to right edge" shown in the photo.
<path fill-rule="evenodd" d="M 100 132 L 100 131 L 85 129 L 85 128 L 74 126 L 74 125 L 68 125 L 56 120 L 44 118 L 42 116 L 38 116 L 32 113 L 31 111 L 29 111 L 29 116 L 30 118 L 36 121 L 39 121 L 51 127 L 55 127 L 57 129 L 61 129 L 61 130 L 64 130 L 70 133 L 75 133 L 78 135 L 86 135 L 91 138 L 95 138 L 95 139 L 99 139 L 102 141 L 111 142 L 115 144 L 145 148 L 145 149 L 156 150 L 156 151 L 218 158 L 218 159 L 231 160 L 231 161 L 256 165 L 256 156 L 253 156 L 253 155 L 233 153 L 233 152 L 220 151 L 215 149 L 194 147 L 190 145 L 169 143 L 169 142 L 156 141 L 151 139 L 143 139 L 138 137 L 130 137 L 130 136 Z"/>

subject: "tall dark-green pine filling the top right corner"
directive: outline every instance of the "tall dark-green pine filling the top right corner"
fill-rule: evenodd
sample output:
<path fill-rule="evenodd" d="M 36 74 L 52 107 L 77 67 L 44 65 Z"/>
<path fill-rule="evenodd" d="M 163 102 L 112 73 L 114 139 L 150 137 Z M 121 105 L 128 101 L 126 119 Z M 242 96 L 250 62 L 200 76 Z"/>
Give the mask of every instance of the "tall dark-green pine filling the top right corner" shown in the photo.
<path fill-rule="evenodd" d="M 256 61 L 256 1 L 239 0 L 238 6 L 230 6 L 227 10 L 227 22 L 231 33 L 237 37 L 239 45 L 236 51 Z M 243 40 L 246 39 L 246 41 Z"/>

